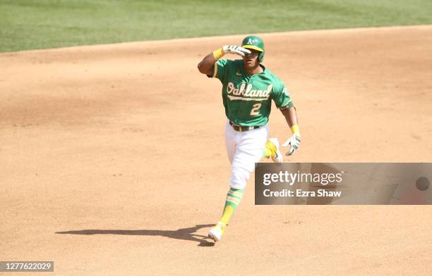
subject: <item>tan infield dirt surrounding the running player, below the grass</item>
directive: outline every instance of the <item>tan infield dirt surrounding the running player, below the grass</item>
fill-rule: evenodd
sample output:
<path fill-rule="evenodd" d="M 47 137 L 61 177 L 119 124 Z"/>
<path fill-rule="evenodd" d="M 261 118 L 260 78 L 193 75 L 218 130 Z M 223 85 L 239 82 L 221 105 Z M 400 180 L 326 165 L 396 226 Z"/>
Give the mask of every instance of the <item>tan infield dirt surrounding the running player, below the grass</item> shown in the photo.
<path fill-rule="evenodd" d="M 431 206 L 254 206 L 220 244 L 220 82 L 243 36 L 0 54 L 0 260 L 55 275 L 426 275 Z M 302 145 L 285 161 L 432 161 L 432 26 L 262 35 Z M 276 110 L 270 134 L 287 139 Z"/>

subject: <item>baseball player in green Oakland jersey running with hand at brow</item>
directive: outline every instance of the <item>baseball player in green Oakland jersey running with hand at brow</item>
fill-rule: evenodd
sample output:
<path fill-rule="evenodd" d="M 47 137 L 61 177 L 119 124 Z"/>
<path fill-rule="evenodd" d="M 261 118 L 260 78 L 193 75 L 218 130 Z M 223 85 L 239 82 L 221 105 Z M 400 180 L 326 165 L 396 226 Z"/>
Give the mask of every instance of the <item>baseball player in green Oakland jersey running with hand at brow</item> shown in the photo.
<path fill-rule="evenodd" d="M 225 54 L 236 54 L 242 59 L 221 59 Z M 268 140 L 272 100 L 292 130 L 292 136 L 282 146 L 290 146 L 287 155 L 299 149 L 296 109 L 284 83 L 262 64 L 264 54 L 263 40 L 249 35 L 243 39 L 241 46 L 222 46 L 198 63 L 200 73 L 217 77 L 222 82 L 222 101 L 227 115 L 225 146 L 232 165 L 222 218 L 208 233 L 215 242 L 222 238 L 229 219 L 239 205 L 255 163 L 262 157 L 282 162 L 279 142 L 276 138 Z"/>

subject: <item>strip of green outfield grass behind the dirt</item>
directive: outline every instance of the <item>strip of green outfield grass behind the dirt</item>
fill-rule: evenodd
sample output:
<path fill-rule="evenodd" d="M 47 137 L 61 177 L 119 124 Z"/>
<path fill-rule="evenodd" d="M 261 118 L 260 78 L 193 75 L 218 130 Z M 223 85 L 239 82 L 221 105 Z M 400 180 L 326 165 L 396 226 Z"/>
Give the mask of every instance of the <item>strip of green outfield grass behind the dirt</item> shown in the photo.
<path fill-rule="evenodd" d="M 431 0 L 0 0 L 0 51 L 431 23 Z"/>

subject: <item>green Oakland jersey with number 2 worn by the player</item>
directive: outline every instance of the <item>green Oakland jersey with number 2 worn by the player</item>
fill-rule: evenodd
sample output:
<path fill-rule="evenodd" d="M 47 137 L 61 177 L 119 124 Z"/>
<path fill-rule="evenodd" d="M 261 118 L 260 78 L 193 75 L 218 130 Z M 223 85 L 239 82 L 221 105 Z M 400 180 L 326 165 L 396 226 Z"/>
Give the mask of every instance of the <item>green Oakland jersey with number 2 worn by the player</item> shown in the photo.
<path fill-rule="evenodd" d="M 212 77 L 222 82 L 225 115 L 236 125 L 268 123 L 272 100 L 277 108 L 294 106 L 282 80 L 262 67 L 262 73 L 248 75 L 241 59 L 220 59 L 215 63 Z"/>

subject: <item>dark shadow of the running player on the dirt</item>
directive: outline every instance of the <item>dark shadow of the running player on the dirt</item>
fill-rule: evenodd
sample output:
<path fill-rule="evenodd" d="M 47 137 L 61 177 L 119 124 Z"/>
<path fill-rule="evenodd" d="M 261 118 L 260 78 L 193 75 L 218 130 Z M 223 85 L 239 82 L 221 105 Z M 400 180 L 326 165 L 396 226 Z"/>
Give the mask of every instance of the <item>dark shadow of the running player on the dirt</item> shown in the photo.
<path fill-rule="evenodd" d="M 198 242 L 198 246 L 214 246 L 215 243 L 209 242 L 209 237 L 193 234 L 204 227 L 214 225 L 196 225 L 194 227 L 181 228 L 178 230 L 71 230 L 56 232 L 56 234 L 125 234 L 125 235 L 142 235 L 142 236 L 162 236 L 170 239 L 184 239 L 186 241 Z"/>

